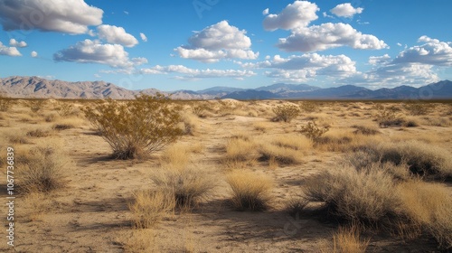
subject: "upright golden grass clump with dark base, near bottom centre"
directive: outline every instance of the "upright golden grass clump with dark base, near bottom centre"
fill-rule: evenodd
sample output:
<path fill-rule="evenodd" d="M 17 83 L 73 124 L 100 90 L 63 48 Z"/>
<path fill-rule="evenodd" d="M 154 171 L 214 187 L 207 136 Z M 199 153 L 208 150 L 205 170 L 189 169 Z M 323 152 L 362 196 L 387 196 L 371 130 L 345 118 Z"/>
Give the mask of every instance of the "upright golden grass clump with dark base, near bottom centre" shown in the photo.
<path fill-rule="evenodd" d="M 240 211 L 263 211 L 268 209 L 273 187 L 271 178 L 263 173 L 234 170 L 226 176 L 231 186 L 231 203 Z"/>

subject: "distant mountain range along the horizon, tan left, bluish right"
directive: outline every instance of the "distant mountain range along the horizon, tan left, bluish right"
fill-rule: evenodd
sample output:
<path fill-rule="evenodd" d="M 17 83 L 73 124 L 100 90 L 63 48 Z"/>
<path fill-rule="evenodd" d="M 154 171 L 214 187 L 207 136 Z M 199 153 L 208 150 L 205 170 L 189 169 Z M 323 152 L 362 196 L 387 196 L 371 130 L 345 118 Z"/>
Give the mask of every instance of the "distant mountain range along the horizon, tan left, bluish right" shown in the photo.
<path fill-rule="evenodd" d="M 202 90 L 176 90 L 162 92 L 158 89 L 130 90 L 105 81 L 46 80 L 40 77 L 8 77 L 0 79 L 0 92 L 11 98 L 114 98 L 131 99 L 139 93 L 155 95 L 172 94 L 174 99 L 439 99 L 452 98 L 452 81 L 442 80 L 423 87 L 400 85 L 388 89 L 367 89 L 344 85 L 321 89 L 307 84 L 276 83 L 256 89 L 212 87 Z"/>

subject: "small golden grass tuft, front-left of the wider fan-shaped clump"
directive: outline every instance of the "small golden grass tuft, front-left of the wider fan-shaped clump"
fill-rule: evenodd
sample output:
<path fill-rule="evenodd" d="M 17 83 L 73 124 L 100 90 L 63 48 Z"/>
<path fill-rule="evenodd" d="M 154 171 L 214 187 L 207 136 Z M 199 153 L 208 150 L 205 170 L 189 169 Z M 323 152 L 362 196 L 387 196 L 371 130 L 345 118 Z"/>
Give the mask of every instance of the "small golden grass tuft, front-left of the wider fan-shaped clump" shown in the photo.
<path fill-rule="evenodd" d="M 173 196 L 163 191 L 138 191 L 133 194 L 133 201 L 128 203 L 132 212 L 132 224 L 136 229 L 155 227 L 165 215 L 174 210 Z"/>

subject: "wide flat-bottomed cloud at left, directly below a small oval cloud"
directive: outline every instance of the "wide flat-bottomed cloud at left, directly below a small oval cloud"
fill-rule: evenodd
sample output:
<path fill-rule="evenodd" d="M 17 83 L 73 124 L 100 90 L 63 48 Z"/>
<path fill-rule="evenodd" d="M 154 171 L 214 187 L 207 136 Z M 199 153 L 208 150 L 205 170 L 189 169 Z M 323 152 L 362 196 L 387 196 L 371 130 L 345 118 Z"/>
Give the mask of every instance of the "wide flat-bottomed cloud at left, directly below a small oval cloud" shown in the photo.
<path fill-rule="evenodd" d="M 143 62 L 144 58 L 130 60 L 124 47 L 119 44 L 102 44 L 99 41 L 84 40 L 56 52 L 54 61 L 73 61 L 80 63 L 106 64 L 112 68 L 129 69 Z"/>

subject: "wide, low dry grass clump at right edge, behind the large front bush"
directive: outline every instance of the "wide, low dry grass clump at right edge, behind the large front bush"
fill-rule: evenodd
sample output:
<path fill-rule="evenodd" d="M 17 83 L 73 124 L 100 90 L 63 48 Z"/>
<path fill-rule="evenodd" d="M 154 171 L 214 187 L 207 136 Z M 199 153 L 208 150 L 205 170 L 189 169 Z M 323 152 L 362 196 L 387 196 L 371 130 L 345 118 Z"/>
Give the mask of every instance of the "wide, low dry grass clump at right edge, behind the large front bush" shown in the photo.
<path fill-rule="evenodd" d="M 363 151 L 372 155 L 373 162 L 407 164 L 414 174 L 452 177 L 452 155 L 439 146 L 411 140 L 367 145 Z"/>

